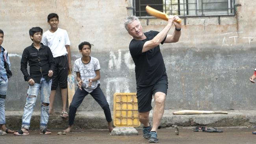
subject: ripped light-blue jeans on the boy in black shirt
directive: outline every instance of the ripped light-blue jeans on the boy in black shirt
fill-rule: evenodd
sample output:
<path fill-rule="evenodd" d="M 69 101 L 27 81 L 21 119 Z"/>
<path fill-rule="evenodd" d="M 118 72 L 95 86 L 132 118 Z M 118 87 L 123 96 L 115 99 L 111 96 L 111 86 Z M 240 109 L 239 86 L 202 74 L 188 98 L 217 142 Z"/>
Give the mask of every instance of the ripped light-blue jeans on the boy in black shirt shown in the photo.
<path fill-rule="evenodd" d="M 24 114 L 22 116 L 21 128 L 29 129 L 30 127 L 30 120 L 39 91 L 41 98 L 40 129 L 45 129 L 47 127 L 49 119 L 49 98 L 51 93 L 51 85 L 52 79 L 47 82 L 45 78 L 41 78 L 40 83 L 35 83 L 33 86 L 29 85 L 27 92 L 27 100 L 24 107 Z M 47 106 L 43 105 L 43 103 L 45 103 Z"/>

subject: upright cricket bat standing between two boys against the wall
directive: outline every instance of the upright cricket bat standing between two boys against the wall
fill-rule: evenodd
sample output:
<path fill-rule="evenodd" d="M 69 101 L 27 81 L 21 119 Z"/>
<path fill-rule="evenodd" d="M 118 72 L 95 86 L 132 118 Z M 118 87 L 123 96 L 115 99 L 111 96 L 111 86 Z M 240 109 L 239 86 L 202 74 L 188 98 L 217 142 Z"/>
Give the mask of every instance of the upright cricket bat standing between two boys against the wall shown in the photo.
<path fill-rule="evenodd" d="M 68 103 L 70 105 L 70 103 L 72 102 L 73 96 L 75 94 L 75 84 L 74 84 L 75 79 L 70 71 L 69 71 L 67 81 L 68 81 Z"/>

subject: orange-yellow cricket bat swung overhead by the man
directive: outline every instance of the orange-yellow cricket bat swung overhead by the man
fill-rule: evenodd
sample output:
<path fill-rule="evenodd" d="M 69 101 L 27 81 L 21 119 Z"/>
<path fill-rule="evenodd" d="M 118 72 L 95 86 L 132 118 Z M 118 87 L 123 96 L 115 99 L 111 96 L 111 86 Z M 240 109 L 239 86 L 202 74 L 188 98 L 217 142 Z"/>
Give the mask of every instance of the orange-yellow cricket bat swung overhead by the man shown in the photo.
<path fill-rule="evenodd" d="M 146 11 L 148 14 L 150 14 L 156 18 L 160 18 L 162 20 L 168 21 L 169 15 L 167 15 L 166 13 L 158 11 L 150 6 L 146 6 Z M 181 23 L 181 19 L 176 19 L 175 22 Z"/>

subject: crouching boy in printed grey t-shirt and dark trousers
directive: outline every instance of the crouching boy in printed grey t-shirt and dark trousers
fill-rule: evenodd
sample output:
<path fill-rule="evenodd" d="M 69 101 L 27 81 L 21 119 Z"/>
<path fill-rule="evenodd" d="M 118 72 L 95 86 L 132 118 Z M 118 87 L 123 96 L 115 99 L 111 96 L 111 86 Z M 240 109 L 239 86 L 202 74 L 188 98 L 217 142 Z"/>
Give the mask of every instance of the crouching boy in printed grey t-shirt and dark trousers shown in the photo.
<path fill-rule="evenodd" d="M 87 94 L 91 94 L 100 107 L 102 107 L 108 122 L 108 129 L 109 131 L 112 131 L 111 112 L 106 97 L 100 89 L 100 63 L 98 59 L 90 56 L 91 44 L 89 42 L 82 42 L 79 44 L 78 48 L 82 54 L 81 58 L 76 59 L 74 65 L 76 81 L 78 81 L 78 89 L 69 106 L 69 127 L 65 129 L 64 132 L 70 132 L 72 130 L 76 110 Z"/>

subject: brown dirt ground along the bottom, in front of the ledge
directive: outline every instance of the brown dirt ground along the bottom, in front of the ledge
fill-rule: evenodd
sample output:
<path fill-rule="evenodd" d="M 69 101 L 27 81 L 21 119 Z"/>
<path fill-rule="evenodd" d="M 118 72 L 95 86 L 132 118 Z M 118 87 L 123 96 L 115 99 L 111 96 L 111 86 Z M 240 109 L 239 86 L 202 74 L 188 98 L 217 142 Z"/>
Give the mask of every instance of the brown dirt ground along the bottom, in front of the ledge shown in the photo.
<path fill-rule="evenodd" d="M 193 132 L 193 127 L 180 128 L 175 135 L 174 128 L 158 129 L 161 144 L 256 144 L 254 128 L 224 127 L 218 128 L 223 133 Z M 51 135 L 40 135 L 39 130 L 29 131 L 30 135 L 15 136 L 7 134 L 0 136 L 0 144 L 148 144 L 142 138 L 142 129 L 137 129 L 139 135 L 117 136 L 110 135 L 107 129 L 74 130 L 67 135 L 57 135 L 61 130 L 52 130 Z"/>

